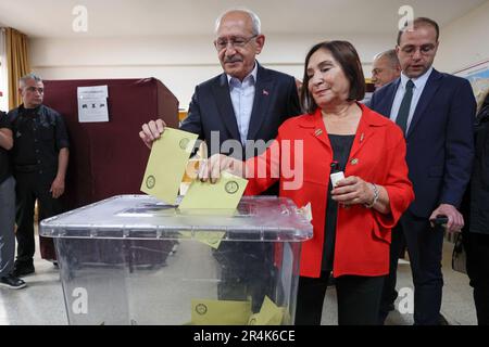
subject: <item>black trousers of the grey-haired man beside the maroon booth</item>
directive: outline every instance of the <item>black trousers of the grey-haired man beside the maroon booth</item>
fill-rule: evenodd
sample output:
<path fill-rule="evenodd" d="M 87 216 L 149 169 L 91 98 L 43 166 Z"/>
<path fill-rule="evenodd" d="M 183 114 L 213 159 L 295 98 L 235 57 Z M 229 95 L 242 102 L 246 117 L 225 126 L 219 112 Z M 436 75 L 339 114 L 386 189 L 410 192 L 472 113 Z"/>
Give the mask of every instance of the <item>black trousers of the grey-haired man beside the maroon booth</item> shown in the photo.
<path fill-rule="evenodd" d="M 39 221 L 61 213 L 60 201 L 49 191 L 52 180 L 46 180 L 37 172 L 16 172 L 16 239 L 17 262 L 33 261 L 36 249 L 34 239 L 34 207 L 36 200 L 39 208 Z M 40 237 L 41 257 L 55 260 L 52 239 Z"/>

